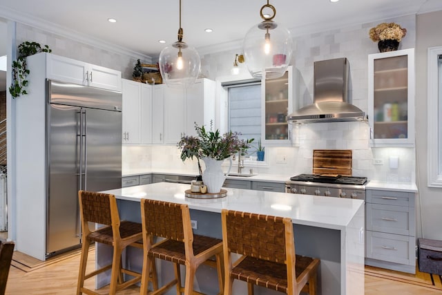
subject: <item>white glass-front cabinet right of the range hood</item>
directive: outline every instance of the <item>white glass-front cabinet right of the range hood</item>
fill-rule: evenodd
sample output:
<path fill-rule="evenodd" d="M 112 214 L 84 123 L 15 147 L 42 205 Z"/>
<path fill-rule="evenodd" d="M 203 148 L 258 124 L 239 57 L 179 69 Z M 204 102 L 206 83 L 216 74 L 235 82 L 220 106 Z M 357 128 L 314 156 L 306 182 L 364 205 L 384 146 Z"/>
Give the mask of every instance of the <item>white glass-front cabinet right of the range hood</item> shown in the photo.
<path fill-rule="evenodd" d="M 414 48 L 368 57 L 372 146 L 414 146 Z"/>

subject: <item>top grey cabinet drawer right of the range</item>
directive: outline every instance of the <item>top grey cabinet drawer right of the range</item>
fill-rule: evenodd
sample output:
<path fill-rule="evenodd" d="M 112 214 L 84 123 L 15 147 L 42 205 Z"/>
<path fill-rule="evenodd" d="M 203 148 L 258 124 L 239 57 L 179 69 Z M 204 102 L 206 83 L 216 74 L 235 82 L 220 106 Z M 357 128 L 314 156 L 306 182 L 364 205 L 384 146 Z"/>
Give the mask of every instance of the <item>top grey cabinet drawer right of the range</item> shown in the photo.
<path fill-rule="evenodd" d="M 367 203 L 414 207 L 414 193 L 367 189 Z"/>

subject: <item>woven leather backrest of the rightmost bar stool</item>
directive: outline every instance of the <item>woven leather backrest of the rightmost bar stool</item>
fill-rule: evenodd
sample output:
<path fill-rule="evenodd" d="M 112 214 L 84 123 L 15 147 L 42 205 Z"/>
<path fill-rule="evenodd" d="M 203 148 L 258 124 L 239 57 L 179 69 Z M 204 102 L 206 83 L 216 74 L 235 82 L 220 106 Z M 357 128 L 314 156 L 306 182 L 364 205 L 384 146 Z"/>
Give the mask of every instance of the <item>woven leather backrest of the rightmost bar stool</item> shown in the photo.
<path fill-rule="evenodd" d="M 222 227 L 229 252 L 285 264 L 294 257 L 290 218 L 223 209 Z"/>

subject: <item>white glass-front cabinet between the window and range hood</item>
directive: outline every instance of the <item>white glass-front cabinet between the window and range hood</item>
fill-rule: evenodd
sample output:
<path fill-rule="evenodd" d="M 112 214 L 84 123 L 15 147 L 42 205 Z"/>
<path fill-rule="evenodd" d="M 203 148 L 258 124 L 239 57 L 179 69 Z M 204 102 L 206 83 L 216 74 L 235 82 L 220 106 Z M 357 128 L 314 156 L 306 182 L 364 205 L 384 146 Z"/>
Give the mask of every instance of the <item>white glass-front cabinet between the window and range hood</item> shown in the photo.
<path fill-rule="evenodd" d="M 285 75 L 277 79 L 262 80 L 262 143 L 291 144 L 292 125 L 287 122 L 287 115 L 296 107 L 294 95 L 293 66 L 289 66 Z"/>

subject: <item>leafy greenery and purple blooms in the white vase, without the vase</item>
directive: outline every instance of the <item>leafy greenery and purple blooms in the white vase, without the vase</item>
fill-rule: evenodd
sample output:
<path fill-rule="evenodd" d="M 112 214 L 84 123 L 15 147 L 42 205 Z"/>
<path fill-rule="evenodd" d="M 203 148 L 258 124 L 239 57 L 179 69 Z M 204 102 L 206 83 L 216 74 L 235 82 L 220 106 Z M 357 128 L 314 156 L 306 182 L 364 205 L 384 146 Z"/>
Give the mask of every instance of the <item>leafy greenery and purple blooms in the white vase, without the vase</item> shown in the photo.
<path fill-rule="evenodd" d="M 249 149 L 251 140 L 240 140 L 238 132 L 229 131 L 221 136 L 217 129 L 213 131 L 213 122 L 211 122 L 210 131 L 206 131 L 204 126 L 198 126 L 195 123 L 195 131 L 198 137 L 183 136 L 177 146 L 181 149 L 180 158 L 184 162 L 186 159 L 198 160 L 198 169 L 202 174 L 200 159 L 203 157 L 213 158 L 215 160 L 224 160 L 229 158 L 234 153 L 244 152 Z"/>

